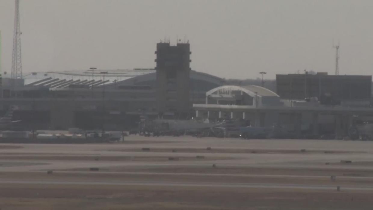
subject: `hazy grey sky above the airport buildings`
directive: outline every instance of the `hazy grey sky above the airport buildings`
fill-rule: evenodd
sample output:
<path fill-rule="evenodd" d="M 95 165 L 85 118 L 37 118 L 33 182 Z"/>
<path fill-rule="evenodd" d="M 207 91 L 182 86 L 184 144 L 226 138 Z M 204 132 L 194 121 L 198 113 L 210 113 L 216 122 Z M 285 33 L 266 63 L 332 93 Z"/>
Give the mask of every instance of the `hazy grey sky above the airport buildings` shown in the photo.
<path fill-rule="evenodd" d="M 156 43 L 187 37 L 191 67 L 225 78 L 314 70 L 372 74 L 372 0 L 21 0 L 23 72 L 154 68 Z M 14 1 L 0 0 L 10 71 Z"/>

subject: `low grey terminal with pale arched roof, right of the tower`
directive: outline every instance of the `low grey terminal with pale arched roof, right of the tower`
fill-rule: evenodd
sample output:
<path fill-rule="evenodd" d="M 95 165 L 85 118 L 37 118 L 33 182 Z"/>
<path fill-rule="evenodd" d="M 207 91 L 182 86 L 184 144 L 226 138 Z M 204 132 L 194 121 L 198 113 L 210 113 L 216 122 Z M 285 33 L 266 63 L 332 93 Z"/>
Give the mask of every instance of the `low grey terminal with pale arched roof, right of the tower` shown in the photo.
<path fill-rule="evenodd" d="M 304 79 L 304 75 L 297 75 L 297 77 Z M 344 81 L 349 79 L 354 81 L 355 77 L 343 76 L 342 78 Z M 329 97 L 334 96 L 340 100 L 339 104 L 330 103 L 333 100 L 327 98 L 323 104 L 317 97 L 303 98 L 301 95 L 297 99 L 281 97 L 279 93 L 285 94 L 285 88 L 274 93 L 256 85 L 223 85 L 207 91 L 205 103 L 193 104 L 193 107 L 197 117 L 213 122 L 223 119 L 244 120 L 245 125 L 253 127 L 279 126 L 294 133 L 298 138 L 301 135 L 319 137 L 322 134 L 342 138 L 348 135 L 349 128 L 355 122 L 372 123 L 373 120 L 369 97 L 371 91 L 368 85 L 371 76 L 359 78 L 368 82 L 354 86 L 353 91 L 360 91 L 360 94 L 353 97 L 344 98 L 344 95 L 334 94 L 341 91 L 329 91 L 327 88 L 331 86 L 330 84 L 326 87 L 319 86 L 322 90 L 332 93 Z M 300 83 L 301 81 L 297 81 L 296 84 Z M 288 83 L 283 82 L 283 84 Z M 304 93 L 304 83 L 302 87 L 301 90 L 297 87 L 297 92 Z"/>

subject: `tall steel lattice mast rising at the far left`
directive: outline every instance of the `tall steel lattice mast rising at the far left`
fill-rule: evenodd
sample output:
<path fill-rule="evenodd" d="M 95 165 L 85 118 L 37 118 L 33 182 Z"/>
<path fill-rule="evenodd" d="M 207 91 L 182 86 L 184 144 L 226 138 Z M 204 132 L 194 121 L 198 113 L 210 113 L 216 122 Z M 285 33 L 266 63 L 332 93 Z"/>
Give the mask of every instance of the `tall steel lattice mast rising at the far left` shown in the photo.
<path fill-rule="evenodd" d="M 19 27 L 19 0 L 15 0 L 13 55 L 12 55 L 12 78 L 22 78 L 21 61 L 21 29 Z"/>

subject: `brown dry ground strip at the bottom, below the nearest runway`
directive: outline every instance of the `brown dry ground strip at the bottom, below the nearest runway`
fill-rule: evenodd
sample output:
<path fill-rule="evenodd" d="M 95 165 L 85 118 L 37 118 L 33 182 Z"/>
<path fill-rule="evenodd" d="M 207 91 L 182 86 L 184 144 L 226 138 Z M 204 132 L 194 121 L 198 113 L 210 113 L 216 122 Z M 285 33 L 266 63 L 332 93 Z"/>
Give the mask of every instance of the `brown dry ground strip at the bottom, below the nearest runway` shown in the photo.
<path fill-rule="evenodd" d="M 372 209 L 366 192 L 279 189 L 148 188 L 13 185 L 0 192 L 2 209 Z M 22 189 L 22 190 L 20 190 Z M 6 193 L 4 193 L 6 191 Z M 16 198 L 22 197 L 22 198 Z"/>

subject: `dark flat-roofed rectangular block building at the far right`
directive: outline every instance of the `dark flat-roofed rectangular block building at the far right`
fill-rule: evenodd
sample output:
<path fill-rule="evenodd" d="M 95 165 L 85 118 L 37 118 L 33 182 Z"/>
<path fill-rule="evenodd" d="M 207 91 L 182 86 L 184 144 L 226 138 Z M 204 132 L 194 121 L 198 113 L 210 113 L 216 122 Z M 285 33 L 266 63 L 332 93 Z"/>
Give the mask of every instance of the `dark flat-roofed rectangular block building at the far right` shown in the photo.
<path fill-rule="evenodd" d="M 292 100 L 317 97 L 321 103 L 327 103 L 329 97 L 336 104 L 370 101 L 372 75 L 278 74 L 276 91 L 281 98 Z"/>

